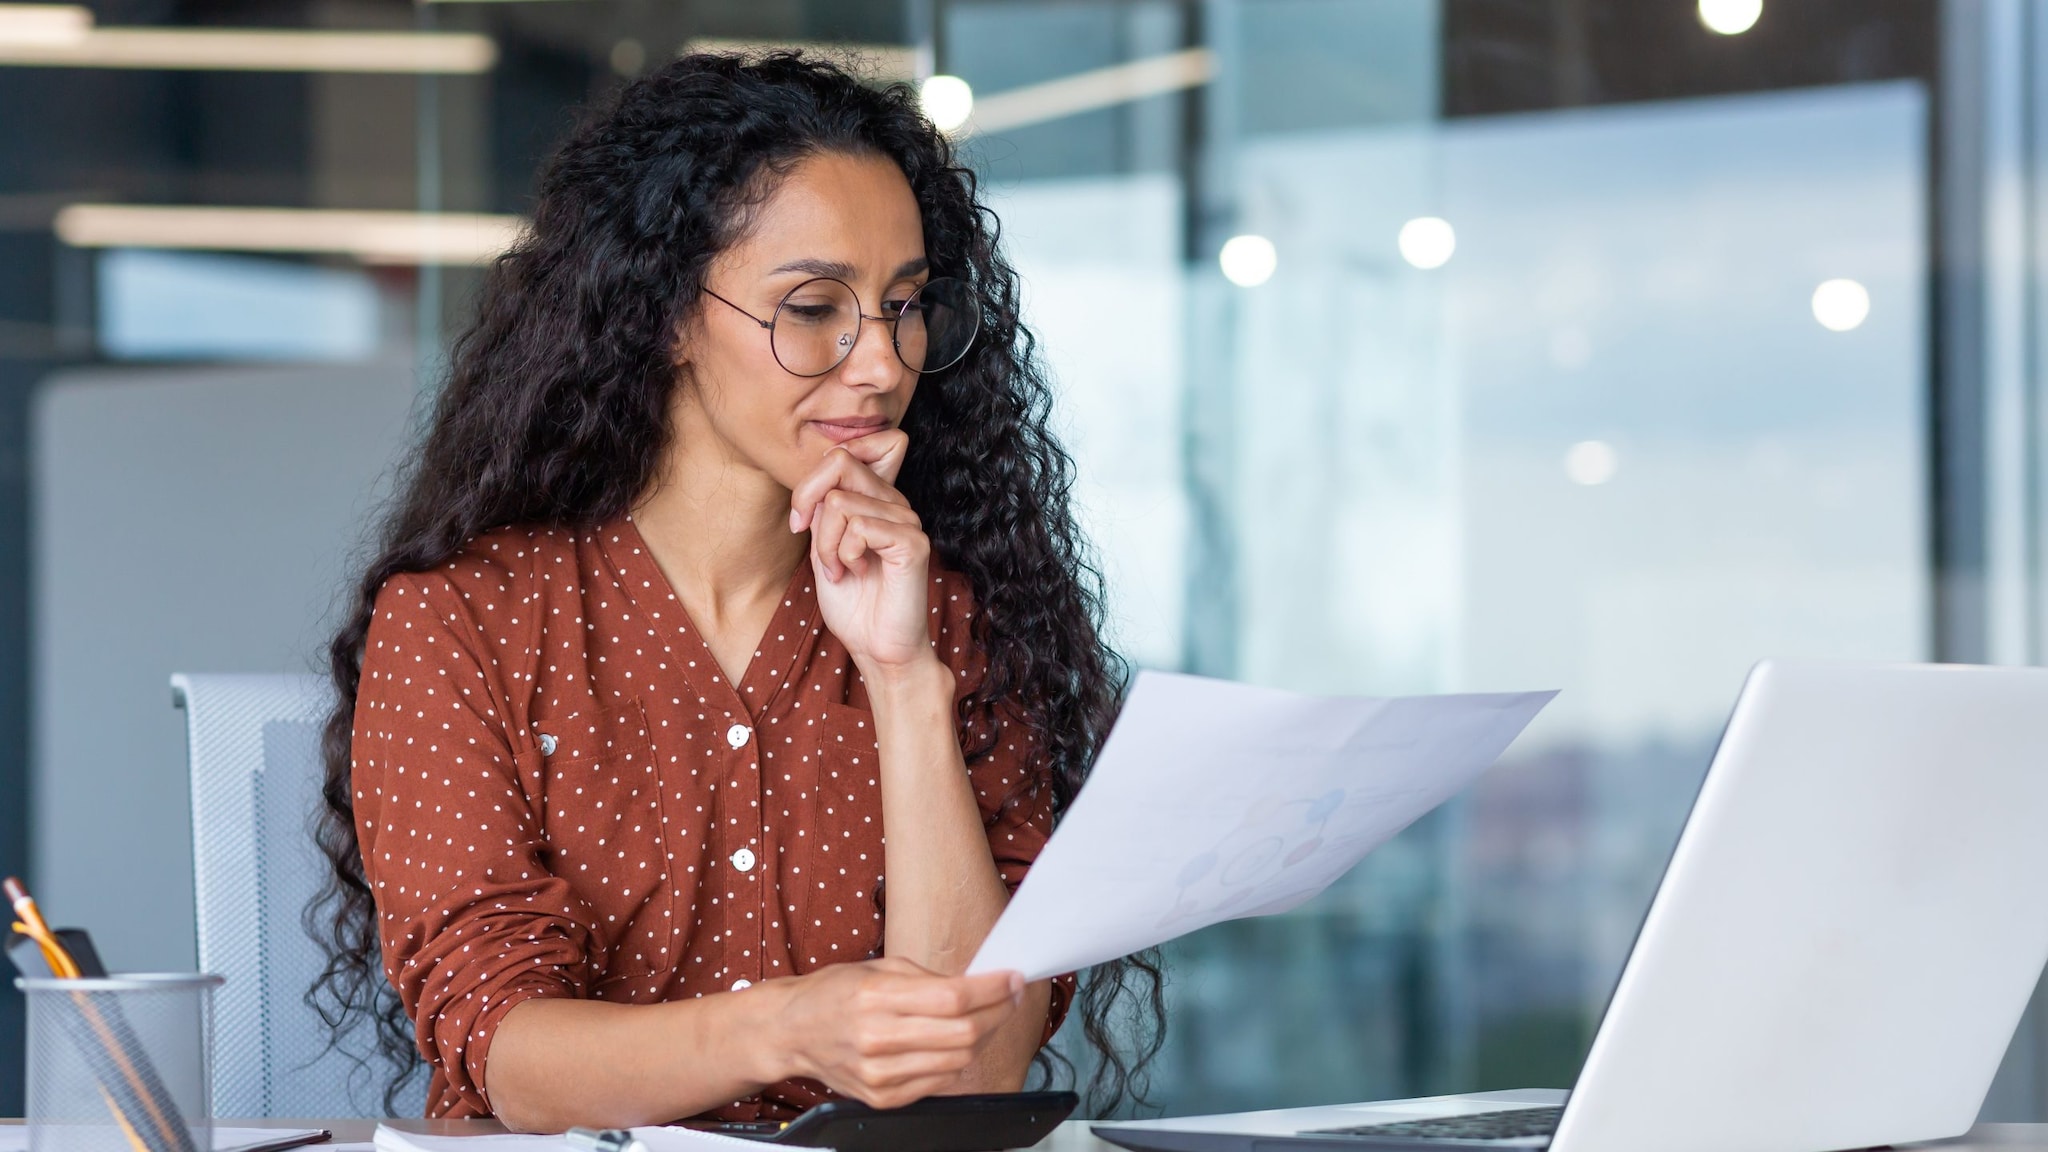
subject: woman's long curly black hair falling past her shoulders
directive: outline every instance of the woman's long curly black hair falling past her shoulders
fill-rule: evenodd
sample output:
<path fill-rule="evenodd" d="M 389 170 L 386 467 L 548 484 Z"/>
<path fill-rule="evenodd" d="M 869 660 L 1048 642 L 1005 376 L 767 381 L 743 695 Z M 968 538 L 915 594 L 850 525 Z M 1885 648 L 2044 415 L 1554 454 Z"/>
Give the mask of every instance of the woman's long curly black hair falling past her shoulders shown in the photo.
<path fill-rule="evenodd" d="M 532 232 L 492 266 L 475 324 L 457 340 L 432 426 L 387 510 L 377 556 L 330 646 L 326 810 L 315 838 L 334 875 L 307 910 L 328 953 L 309 990 L 336 1039 L 365 1021 L 399 1072 L 420 1072 L 412 1021 L 383 974 L 377 908 L 362 875 L 350 791 L 350 730 L 362 642 L 385 580 L 440 568 L 502 525 L 598 525 L 631 508 L 670 443 L 672 346 L 705 269 L 807 156 L 885 156 L 909 178 L 934 275 L 975 285 L 983 334 L 956 367 L 922 381 L 903 416 L 897 488 L 938 558 L 981 611 L 987 676 L 961 703 L 993 750 L 997 707 L 1047 752 L 1065 812 L 1116 715 L 1124 666 L 1100 633 L 1100 574 L 1069 510 L 1071 461 L 1049 430 L 1051 389 L 1018 322 L 1018 277 L 997 250 L 975 176 L 905 84 L 872 86 L 801 53 L 686 55 L 625 86 L 547 164 Z M 1157 955 L 1081 978 L 1075 1015 L 1092 1050 L 1087 1105 L 1145 1099 L 1163 1043 Z M 1038 1074 L 1057 1050 L 1038 1056 Z"/>

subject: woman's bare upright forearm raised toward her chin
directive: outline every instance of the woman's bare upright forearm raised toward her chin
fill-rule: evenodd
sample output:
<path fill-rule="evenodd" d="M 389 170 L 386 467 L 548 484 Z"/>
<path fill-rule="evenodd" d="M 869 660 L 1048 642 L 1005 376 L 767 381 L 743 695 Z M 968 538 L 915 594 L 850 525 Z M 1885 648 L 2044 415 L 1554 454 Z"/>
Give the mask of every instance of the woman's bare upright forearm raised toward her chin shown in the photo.
<path fill-rule="evenodd" d="M 952 719 L 952 670 L 936 658 L 864 674 L 883 760 L 883 951 L 932 972 L 967 972 L 1010 902 Z M 1030 984 L 961 1091 L 1016 1091 L 1044 1035 L 1051 984 Z"/>

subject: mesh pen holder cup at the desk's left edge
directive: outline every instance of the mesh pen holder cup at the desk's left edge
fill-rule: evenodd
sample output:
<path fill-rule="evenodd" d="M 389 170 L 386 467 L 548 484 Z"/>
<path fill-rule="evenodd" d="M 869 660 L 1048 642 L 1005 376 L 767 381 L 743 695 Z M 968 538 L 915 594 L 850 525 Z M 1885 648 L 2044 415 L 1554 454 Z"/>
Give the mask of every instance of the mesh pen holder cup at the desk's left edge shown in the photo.
<path fill-rule="evenodd" d="M 29 1152 L 211 1152 L 219 984 L 16 980 L 29 1000 Z"/>

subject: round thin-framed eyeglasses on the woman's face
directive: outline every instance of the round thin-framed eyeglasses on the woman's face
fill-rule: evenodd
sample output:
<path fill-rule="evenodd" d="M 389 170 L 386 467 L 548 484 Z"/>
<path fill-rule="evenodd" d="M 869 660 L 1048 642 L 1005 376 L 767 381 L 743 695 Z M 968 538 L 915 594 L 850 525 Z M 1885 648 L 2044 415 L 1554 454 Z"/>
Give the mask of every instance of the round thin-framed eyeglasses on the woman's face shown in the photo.
<path fill-rule="evenodd" d="M 885 299 L 881 316 L 864 316 L 860 297 L 846 281 L 817 277 L 803 281 L 762 320 L 745 307 L 705 289 L 705 295 L 768 330 L 774 363 L 791 375 L 825 375 L 840 367 L 860 342 L 860 324 L 874 320 L 895 328 L 895 351 L 915 373 L 950 369 L 967 355 L 981 330 L 981 307 L 967 281 L 938 277 L 901 299 Z"/>

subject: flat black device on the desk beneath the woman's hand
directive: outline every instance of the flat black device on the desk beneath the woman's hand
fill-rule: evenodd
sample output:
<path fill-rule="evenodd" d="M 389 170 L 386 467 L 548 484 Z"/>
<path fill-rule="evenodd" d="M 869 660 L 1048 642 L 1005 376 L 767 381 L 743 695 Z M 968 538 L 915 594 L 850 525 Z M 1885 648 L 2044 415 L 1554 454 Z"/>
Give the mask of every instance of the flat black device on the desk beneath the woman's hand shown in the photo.
<path fill-rule="evenodd" d="M 999 1093 L 987 1097 L 926 1097 L 899 1109 L 827 1101 L 784 1123 L 692 1123 L 719 1136 L 741 1136 L 793 1148 L 838 1152 L 1001 1152 L 1030 1148 L 1073 1115 L 1073 1093 Z"/>

